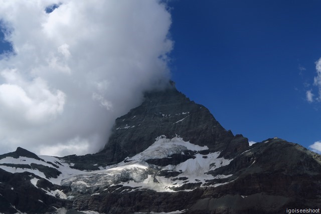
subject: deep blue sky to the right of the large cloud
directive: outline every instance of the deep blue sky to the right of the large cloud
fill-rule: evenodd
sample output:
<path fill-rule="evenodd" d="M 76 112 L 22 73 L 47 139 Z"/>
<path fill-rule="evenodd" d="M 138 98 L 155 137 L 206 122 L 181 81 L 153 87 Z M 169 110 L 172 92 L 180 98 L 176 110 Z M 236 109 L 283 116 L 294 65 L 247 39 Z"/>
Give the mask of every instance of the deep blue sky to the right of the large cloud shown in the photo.
<path fill-rule="evenodd" d="M 234 134 L 321 140 L 320 1 L 171 1 L 172 79 Z"/>

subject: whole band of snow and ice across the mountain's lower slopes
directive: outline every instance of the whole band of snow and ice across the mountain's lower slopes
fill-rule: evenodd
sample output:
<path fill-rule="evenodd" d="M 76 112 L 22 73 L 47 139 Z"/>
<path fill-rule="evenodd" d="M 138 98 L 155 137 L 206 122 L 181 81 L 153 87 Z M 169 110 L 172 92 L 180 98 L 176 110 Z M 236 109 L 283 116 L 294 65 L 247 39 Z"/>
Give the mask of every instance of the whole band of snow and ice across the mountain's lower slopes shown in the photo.
<path fill-rule="evenodd" d="M 208 183 L 209 180 L 225 179 L 232 176 L 232 174 L 216 176 L 208 174 L 209 171 L 228 165 L 231 162 L 231 159 L 219 158 L 220 152 L 211 152 L 206 155 L 199 153 L 202 150 L 208 149 L 207 146 L 199 146 L 189 141 L 184 141 L 179 136 L 169 139 L 162 135 L 157 137 L 155 142 L 144 151 L 132 157 L 127 157 L 118 164 L 99 167 L 100 169 L 96 171 L 86 172 L 71 168 L 74 165 L 73 163 L 67 163 L 62 159 L 52 156 L 39 156 L 42 160 L 28 157 L 6 157 L 0 160 L 0 164 L 11 163 L 20 164 L 20 166 L 22 166 L 21 164 L 41 164 L 59 170 L 61 174 L 57 178 L 48 178 L 43 172 L 35 168 L 20 168 L 5 165 L 0 165 L 0 168 L 12 173 L 28 171 L 54 184 L 70 186 L 72 191 L 88 192 L 92 195 L 96 194 L 97 192 L 95 191 L 100 188 L 109 191 L 108 187 L 115 184 L 120 184 L 125 189 L 128 187 L 128 191 L 147 188 L 158 192 L 173 192 L 178 191 L 176 188 L 182 191 L 191 191 L 195 188 L 193 187 L 194 184 L 196 186 L 218 186 L 233 182 Z M 146 162 L 149 159 L 171 158 L 171 155 L 184 154 L 185 151 L 193 151 L 193 158 L 177 165 L 158 166 Z M 166 177 L 162 173 L 159 174 L 160 172 L 167 171 L 174 172 L 174 175 Z M 39 178 L 33 177 L 30 182 L 37 187 L 38 180 Z M 184 184 L 186 183 L 190 183 L 192 187 L 185 188 Z M 67 197 L 65 193 L 58 189 L 42 190 L 52 196 L 60 198 L 70 197 L 70 195 Z"/>

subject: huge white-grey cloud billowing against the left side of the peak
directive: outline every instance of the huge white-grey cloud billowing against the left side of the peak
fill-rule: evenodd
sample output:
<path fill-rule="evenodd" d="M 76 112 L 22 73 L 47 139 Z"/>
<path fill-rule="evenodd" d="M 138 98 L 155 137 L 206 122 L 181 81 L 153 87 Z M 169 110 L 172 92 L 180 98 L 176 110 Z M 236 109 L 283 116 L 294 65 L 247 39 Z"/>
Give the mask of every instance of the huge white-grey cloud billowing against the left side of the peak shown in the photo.
<path fill-rule="evenodd" d="M 169 79 L 171 15 L 160 1 L 0 4 L 15 52 L 0 61 L 0 153 L 96 152 L 114 119 Z"/>

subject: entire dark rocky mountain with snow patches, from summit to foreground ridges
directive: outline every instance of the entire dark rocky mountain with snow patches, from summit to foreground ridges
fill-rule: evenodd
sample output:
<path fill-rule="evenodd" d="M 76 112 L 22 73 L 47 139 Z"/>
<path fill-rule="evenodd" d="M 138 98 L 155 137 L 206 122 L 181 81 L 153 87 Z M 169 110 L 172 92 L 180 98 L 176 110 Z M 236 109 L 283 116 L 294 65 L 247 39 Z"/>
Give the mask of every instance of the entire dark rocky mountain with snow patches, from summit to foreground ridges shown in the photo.
<path fill-rule="evenodd" d="M 320 178 L 320 155 L 279 138 L 249 146 L 172 82 L 95 154 L 0 155 L 0 213 L 285 213 L 319 208 Z"/>

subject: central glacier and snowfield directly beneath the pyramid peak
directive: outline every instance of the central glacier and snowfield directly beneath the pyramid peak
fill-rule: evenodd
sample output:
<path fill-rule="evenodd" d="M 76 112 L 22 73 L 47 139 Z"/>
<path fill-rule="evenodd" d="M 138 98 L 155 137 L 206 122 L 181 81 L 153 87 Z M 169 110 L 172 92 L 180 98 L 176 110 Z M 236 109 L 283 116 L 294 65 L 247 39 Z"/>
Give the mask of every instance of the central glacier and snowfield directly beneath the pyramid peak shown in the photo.
<path fill-rule="evenodd" d="M 207 150 L 207 146 L 199 146 L 190 142 L 184 141 L 181 137 L 168 139 L 162 135 L 155 139 L 155 142 L 144 151 L 127 157 L 125 161 L 120 162 L 115 167 L 87 172 L 76 175 L 62 181 L 63 185 L 70 185 L 72 189 L 84 192 L 88 188 L 97 186 L 112 186 L 114 183 L 122 184 L 124 187 L 138 187 L 137 189 L 152 189 L 158 192 L 175 191 L 175 187 L 180 187 L 185 183 L 201 182 L 202 185 L 206 180 L 215 178 L 227 178 L 230 175 L 207 174 L 208 171 L 214 170 L 224 165 L 228 165 L 231 160 L 218 158 L 220 152 L 207 154 L 204 158 L 202 154 L 195 154 L 195 158 L 190 158 L 178 165 L 155 166 L 148 164 L 145 161 L 148 159 L 165 158 L 173 154 L 181 154 L 183 151 L 192 150 L 195 152 Z M 186 177 L 187 179 L 173 179 L 174 177 L 157 176 L 157 171 L 170 170 L 178 171 L 181 174 L 175 176 Z M 127 181 L 121 181 L 126 179 Z M 227 182 L 226 182 L 227 183 Z M 223 185 L 220 183 L 215 185 Z M 108 190 L 108 188 L 106 188 Z M 191 191 L 193 189 L 184 189 Z"/>

